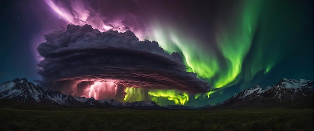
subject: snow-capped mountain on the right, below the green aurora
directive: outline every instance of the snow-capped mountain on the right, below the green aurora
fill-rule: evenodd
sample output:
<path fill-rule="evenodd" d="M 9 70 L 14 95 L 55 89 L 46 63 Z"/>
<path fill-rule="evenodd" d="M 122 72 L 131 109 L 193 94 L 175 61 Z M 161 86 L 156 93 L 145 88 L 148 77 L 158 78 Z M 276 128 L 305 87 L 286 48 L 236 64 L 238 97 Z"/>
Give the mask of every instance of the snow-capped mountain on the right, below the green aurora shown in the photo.
<path fill-rule="evenodd" d="M 231 107 L 265 107 L 293 105 L 311 107 L 314 97 L 314 82 L 309 80 L 281 79 L 268 89 L 259 86 L 246 89 L 223 102 Z"/>

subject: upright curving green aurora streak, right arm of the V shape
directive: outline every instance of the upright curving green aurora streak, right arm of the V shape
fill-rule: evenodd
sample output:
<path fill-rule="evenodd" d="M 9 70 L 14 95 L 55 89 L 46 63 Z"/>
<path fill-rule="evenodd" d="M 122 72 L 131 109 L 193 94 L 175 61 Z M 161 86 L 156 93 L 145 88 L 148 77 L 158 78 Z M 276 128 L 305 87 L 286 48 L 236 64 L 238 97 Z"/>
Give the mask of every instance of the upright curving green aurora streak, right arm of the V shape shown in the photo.
<path fill-rule="evenodd" d="M 218 79 L 215 87 L 231 86 L 231 82 L 242 71 L 243 61 L 249 52 L 262 1 L 246 1 L 243 11 L 236 17 L 234 25 L 228 28 L 220 27 L 216 36 L 217 46 L 227 60 L 227 72 L 222 79 Z M 234 83 L 233 83 L 234 84 Z"/>

